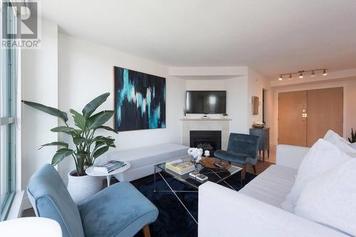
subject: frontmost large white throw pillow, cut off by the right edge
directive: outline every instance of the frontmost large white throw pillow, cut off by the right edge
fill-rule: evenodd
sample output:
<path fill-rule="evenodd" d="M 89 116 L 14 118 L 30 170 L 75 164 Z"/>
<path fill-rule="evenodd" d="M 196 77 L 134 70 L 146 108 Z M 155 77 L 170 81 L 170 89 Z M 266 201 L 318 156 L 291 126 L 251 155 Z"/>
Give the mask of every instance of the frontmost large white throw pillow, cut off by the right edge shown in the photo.
<path fill-rule="evenodd" d="M 356 159 L 305 184 L 295 214 L 356 236 Z"/>

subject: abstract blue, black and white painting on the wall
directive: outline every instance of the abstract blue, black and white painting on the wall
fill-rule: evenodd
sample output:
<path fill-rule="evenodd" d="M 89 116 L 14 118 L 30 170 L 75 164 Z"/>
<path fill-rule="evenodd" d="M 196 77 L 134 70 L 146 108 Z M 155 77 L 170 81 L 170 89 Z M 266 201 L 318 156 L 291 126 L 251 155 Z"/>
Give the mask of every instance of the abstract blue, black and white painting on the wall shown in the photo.
<path fill-rule="evenodd" d="M 166 127 L 166 79 L 114 67 L 115 130 Z"/>

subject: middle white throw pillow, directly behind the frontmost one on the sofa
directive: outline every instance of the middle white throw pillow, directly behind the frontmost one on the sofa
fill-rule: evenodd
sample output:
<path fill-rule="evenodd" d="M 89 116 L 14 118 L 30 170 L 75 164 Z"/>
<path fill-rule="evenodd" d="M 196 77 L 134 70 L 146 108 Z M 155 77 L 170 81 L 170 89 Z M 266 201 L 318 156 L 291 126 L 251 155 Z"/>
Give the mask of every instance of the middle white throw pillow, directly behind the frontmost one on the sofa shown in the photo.
<path fill-rule="evenodd" d="M 300 162 L 293 187 L 286 200 L 281 204 L 282 209 L 293 212 L 300 192 L 309 180 L 350 159 L 350 156 L 332 143 L 319 139 Z"/>

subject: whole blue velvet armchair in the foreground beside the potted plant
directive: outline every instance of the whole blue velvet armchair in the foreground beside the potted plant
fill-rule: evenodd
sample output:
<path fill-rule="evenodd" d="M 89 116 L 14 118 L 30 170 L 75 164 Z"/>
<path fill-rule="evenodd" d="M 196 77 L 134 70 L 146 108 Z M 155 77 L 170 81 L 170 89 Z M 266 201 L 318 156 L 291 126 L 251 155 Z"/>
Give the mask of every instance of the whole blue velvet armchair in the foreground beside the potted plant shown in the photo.
<path fill-rule="evenodd" d="M 158 210 L 129 182 L 103 189 L 77 205 L 58 172 L 43 165 L 31 177 L 28 198 L 36 216 L 58 221 L 64 237 L 150 236 Z"/>

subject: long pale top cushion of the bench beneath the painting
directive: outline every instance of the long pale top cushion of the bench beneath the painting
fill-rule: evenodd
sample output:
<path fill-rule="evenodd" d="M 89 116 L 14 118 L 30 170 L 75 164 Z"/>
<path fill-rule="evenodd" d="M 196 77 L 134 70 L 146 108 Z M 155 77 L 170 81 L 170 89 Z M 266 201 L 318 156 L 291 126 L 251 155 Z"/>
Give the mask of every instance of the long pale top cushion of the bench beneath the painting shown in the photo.
<path fill-rule="evenodd" d="M 122 160 L 130 162 L 130 169 L 153 165 L 172 158 L 188 155 L 188 147 L 174 143 L 150 145 L 129 150 L 117 150 L 108 154 L 108 160 Z"/>

